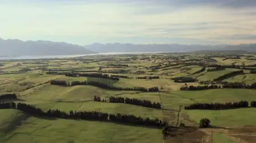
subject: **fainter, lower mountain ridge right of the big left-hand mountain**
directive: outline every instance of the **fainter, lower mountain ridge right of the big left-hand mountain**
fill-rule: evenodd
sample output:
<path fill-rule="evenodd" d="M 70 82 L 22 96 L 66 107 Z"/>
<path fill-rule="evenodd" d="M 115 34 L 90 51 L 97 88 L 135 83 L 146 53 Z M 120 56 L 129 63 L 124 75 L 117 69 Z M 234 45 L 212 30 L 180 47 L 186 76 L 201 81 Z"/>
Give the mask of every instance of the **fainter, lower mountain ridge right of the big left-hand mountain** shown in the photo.
<path fill-rule="evenodd" d="M 84 46 L 96 52 L 125 52 L 125 51 L 152 51 L 152 52 L 181 52 L 200 50 L 245 50 L 256 51 L 256 44 L 242 45 L 179 45 L 179 44 L 100 44 Z"/>

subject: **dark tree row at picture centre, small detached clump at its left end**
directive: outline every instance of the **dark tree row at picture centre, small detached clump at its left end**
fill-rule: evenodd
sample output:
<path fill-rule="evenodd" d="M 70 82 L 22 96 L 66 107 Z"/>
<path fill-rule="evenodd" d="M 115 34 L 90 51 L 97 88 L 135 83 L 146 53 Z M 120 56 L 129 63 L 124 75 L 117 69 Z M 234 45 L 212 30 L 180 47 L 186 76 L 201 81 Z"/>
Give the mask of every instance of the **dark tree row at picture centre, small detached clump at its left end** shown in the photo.
<path fill-rule="evenodd" d="M 98 96 L 94 96 L 94 101 L 107 102 L 105 99 L 101 99 Z M 141 100 L 136 98 L 124 98 L 124 97 L 109 97 L 109 102 L 111 103 L 126 103 L 130 105 L 138 105 L 148 108 L 161 109 L 161 104 L 159 102 L 151 102 L 149 100 Z"/>

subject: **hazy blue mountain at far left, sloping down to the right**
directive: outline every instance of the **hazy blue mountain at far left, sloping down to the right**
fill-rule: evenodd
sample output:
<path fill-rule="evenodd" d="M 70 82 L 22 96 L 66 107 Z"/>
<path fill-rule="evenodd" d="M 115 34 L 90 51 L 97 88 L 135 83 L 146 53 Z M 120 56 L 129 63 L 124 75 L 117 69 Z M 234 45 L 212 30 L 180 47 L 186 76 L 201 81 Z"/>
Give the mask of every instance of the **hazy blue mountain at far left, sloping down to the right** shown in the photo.
<path fill-rule="evenodd" d="M 79 45 L 51 41 L 3 40 L 0 38 L 1 57 L 18 55 L 74 55 L 92 54 L 91 50 Z"/>

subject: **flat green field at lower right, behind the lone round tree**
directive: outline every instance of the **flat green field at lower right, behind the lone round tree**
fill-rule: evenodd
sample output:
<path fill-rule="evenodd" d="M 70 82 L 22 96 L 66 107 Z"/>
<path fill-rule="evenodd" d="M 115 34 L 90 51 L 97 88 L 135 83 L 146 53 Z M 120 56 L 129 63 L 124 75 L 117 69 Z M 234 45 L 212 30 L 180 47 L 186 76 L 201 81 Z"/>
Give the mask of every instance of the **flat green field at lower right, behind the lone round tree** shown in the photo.
<path fill-rule="evenodd" d="M 210 124 L 218 127 L 242 127 L 245 125 L 256 125 L 256 109 L 232 109 L 232 110 L 187 110 L 189 119 L 199 123 L 202 118 L 208 118 Z"/>

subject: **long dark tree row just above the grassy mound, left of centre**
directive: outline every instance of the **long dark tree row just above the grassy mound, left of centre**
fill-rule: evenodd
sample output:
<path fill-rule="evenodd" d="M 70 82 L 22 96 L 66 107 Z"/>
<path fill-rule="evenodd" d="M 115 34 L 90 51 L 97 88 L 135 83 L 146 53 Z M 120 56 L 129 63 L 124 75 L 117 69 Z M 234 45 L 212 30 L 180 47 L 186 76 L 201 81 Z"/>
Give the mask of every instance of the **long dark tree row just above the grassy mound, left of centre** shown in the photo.
<path fill-rule="evenodd" d="M 96 86 L 98 88 L 103 89 L 113 89 L 113 90 L 137 90 L 141 92 L 158 92 L 159 88 L 157 86 L 154 86 L 152 88 L 144 88 L 144 87 L 121 87 L 121 86 L 114 86 L 114 85 L 108 85 L 103 84 L 97 81 L 72 81 L 71 83 L 68 83 L 65 80 L 51 80 L 51 85 L 60 85 L 60 86 L 76 86 L 76 85 L 92 85 Z"/>

